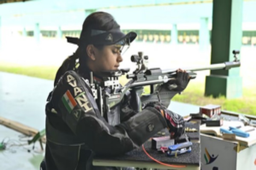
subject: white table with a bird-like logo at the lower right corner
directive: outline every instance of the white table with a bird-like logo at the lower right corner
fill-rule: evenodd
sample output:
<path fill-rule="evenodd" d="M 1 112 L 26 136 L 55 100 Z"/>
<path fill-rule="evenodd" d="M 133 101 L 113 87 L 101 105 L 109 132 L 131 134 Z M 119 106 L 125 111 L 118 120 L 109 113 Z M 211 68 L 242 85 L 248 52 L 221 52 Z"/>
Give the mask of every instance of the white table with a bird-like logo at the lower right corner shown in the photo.
<path fill-rule="evenodd" d="M 224 129 L 241 126 L 240 130 L 253 128 L 244 126 L 238 120 L 224 120 Z M 221 134 L 221 127 L 207 127 L 201 125 L 201 167 L 202 169 L 219 170 L 254 170 L 256 168 L 256 130 L 247 132 L 244 138 L 234 134 L 227 138 Z M 230 135 L 230 134 L 229 134 Z"/>

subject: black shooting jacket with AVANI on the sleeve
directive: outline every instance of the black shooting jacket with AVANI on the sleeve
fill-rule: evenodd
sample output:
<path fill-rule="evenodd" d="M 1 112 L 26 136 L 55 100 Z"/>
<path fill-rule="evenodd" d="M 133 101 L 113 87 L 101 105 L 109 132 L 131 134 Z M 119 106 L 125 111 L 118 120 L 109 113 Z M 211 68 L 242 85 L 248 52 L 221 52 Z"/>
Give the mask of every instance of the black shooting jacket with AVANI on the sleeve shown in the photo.
<path fill-rule="evenodd" d="M 88 75 L 67 71 L 49 94 L 47 170 L 96 170 L 99 167 L 92 165 L 95 154 L 111 156 L 128 152 L 166 127 L 165 119 L 154 108 L 133 112 L 128 94 L 120 105 L 111 108 L 113 118 L 119 120 L 107 122 L 84 81 L 89 79 Z"/>

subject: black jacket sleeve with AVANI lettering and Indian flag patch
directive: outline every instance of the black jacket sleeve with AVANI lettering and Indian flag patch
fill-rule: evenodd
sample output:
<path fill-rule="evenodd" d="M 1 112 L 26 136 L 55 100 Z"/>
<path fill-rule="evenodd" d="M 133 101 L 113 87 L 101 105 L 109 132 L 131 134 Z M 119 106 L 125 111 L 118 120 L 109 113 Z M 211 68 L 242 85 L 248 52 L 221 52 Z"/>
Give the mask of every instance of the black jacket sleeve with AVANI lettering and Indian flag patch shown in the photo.
<path fill-rule="evenodd" d="M 75 71 L 61 77 L 50 103 L 73 135 L 98 154 L 125 153 L 166 127 L 163 116 L 150 107 L 118 125 L 109 125 L 100 115 L 90 88 Z"/>

